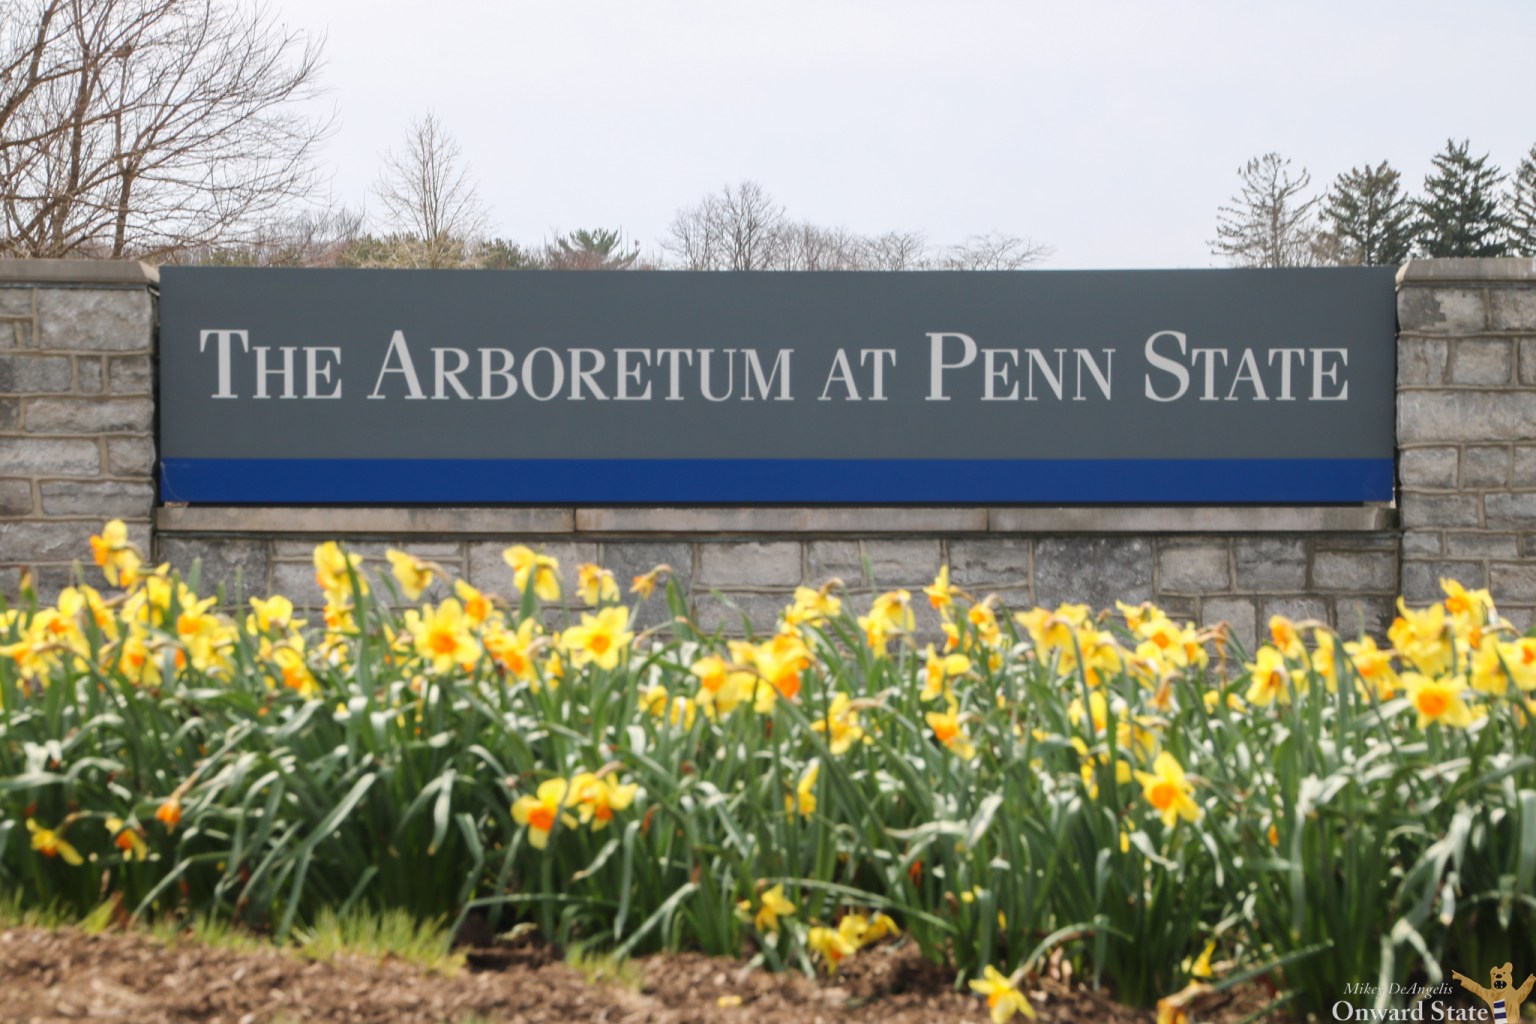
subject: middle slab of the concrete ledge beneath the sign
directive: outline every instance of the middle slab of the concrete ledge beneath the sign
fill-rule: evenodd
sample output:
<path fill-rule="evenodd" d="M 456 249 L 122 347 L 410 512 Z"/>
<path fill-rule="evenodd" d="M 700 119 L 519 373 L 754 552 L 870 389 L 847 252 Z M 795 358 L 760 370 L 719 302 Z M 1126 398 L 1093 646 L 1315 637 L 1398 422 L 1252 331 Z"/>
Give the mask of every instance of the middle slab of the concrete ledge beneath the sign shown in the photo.
<path fill-rule="evenodd" d="M 578 508 L 579 533 L 980 533 L 985 508 Z"/>

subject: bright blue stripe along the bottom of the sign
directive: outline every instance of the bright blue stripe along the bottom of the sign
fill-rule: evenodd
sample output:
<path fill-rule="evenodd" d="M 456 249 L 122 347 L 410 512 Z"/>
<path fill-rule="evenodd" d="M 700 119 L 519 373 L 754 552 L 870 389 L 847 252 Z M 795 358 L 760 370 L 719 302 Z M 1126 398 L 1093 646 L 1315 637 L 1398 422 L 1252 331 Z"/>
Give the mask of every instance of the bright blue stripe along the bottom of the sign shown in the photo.
<path fill-rule="evenodd" d="M 164 459 L 200 504 L 1333 504 L 1392 459 Z"/>

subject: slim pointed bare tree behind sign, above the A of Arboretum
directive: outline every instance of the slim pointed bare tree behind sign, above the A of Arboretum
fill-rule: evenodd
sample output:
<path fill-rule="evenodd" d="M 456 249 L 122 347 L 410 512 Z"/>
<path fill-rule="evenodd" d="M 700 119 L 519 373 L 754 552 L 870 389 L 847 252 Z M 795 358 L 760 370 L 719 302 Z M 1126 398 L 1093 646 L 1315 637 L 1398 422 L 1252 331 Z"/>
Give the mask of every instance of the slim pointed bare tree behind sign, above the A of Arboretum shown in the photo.
<path fill-rule="evenodd" d="M 473 263 L 490 215 L 464 167 L 458 141 L 433 114 L 410 123 L 399 154 L 384 154 L 373 193 L 389 215 L 395 266 Z"/>

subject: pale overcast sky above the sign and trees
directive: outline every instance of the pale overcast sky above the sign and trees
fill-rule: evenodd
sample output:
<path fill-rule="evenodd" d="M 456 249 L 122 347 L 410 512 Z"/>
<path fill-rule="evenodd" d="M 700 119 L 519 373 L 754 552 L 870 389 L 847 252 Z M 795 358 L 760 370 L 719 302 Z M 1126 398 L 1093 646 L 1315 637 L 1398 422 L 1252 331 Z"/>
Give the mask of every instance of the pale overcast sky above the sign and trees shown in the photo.
<path fill-rule="evenodd" d="M 1220 266 L 1236 169 L 1321 192 L 1448 137 L 1536 144 L 1536 3 L 1238 0 L 272 0 L 326 35 L 338 201 L 433 111 L 495 233 L 621 227 L 759 181 L 788 213 L 935 244 L 998 230 L 1049 267 Z"/>

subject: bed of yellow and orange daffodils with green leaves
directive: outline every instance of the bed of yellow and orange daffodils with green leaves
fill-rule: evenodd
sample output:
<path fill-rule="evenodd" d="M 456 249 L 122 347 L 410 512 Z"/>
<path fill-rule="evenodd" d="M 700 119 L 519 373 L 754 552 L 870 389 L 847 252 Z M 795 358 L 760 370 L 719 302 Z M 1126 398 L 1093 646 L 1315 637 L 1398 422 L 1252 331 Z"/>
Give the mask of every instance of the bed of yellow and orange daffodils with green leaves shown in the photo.
<path fill-rule="evenodd" d="M 1447 582 L 1384 646 L 1275 619 L 1249 656 L 1149 605 L 1011 613 L 945 571 L 866 608 L 800 590 L 734 640 L 665 567 L 581 567 L 567 596 L 513 547 L 502 600 L 326 543 L 306 616 L 221 613 L 121 524 L 92 548 L 111 596 L 0 613 L 23 903 L 280 936 L 399 907 L 805 970 L 900 933 L 994 1019 L 1048 958 L 1126 1003 L 1178 993 L 1170 1016 L 1255 972 L 1326 1012 L 1536 963 L 1536 639 L 1485 591 Z M 673 620 L 637 631 L 630 600 Z"/>

